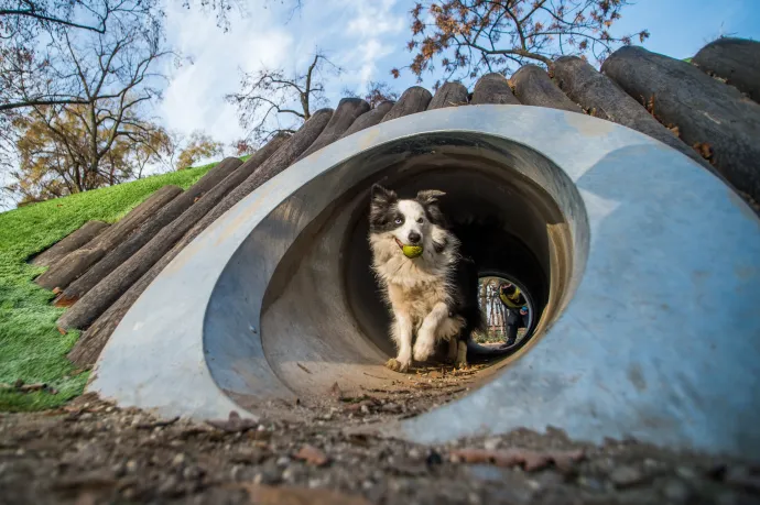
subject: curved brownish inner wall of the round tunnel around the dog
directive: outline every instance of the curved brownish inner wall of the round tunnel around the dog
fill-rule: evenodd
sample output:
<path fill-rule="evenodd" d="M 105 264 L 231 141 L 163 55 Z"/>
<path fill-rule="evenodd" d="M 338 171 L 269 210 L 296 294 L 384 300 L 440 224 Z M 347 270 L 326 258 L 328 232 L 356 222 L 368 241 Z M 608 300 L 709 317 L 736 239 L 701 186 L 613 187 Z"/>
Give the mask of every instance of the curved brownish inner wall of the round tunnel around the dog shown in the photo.
<path fill-rule="evenodd" d="M 583 204 L 567 176 L 535 151 L 466 132 L 383 144 L 327 175 L 361 168 L 372 175 L 330 197 L 287 246 L 267 285 L 260 338 L 279 380 L 310 398 L 326 394 L 335 383 L 351 391 L 399 378 L 384 367 L 394 355 L 389 311 L 370 270 L 368 210 L 374 183 L 401 198 L 420 189 L 445 191 L 442 210 L 466 234 L 460 239 L 468 241 L 480 274 L 514 279 L 529 294 L 538 321 L 534 337 L 496 360 L 482 378 L 526 352 L 571 296 L 567 282 L 577 261 L 571 253 L 577 250 L 572 245 L 573 216 L 583 213 Z M 308 208 L 313 190 L 301 188 L 271 219 L 292 218 L 294 208 Z M 241 250 L 242 257 L 246 246 Z M 245 260 L 235 264 L 236 285 L 245 285 Z M 214 374 L 213 364 L 209 369 Z"/>

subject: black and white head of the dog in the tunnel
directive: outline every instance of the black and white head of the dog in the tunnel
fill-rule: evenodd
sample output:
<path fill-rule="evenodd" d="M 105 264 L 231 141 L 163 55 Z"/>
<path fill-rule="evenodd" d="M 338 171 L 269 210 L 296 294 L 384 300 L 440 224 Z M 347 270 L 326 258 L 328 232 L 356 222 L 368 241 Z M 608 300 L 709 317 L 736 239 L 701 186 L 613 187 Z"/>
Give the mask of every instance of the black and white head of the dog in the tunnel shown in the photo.
<path fill-rule="evenodd" d="M 376 184 L 369 211 L 370 233 L 392 239 L 399 250 L 404 245 L 422 245 L 439 252 L 446 245 L 439 240 L 446 223 L 437 205 L 444 195 L 428 189 L 417 193 L 414 199 L 399 199 L 394 191 Z"/>

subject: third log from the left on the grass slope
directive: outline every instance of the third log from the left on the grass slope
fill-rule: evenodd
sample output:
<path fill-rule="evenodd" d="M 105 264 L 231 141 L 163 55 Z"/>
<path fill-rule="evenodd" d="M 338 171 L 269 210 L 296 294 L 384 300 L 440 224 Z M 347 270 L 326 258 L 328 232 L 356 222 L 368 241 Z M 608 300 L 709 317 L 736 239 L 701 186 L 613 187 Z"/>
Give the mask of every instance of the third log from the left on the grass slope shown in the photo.
<path fill-rule="evenodd" d="M 145 245 L 166 224 L 174 221 L 198 198 L 208 193 L 220 180 L 232 173 L 242 162 L 237 157 L 228 157 L 208 171 L 200 180 L 187 188 L 182 195 L 161 208 L 154 216 L 146 219 L 127 240 L 110 251 L 102 260 L 89 268 L 82 277 L 73 282 L 58 296 L 55 305 L 68 307 L 82 298 L 96 284 L 113 272 L 119 265 L 130 260 L 140 248 Z M 158 259 L 156 259 L 158 260 Z M 62 320 L 65 319 L 62 318 Z M 66 327 L 64 327 L 66 328 Z"/>

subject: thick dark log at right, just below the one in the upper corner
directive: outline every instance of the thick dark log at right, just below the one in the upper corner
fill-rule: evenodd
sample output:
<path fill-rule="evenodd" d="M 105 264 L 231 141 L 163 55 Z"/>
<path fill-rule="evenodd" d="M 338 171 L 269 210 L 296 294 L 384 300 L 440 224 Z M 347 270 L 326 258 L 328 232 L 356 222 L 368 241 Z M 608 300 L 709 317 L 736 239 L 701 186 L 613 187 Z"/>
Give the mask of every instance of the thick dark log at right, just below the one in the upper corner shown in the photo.
<path fill-rule="evenodd" d="M 601 67 L 629 95 L 653 106 L 690 145 L 706 152 L 740 191 L 760 200 L 760 105 L 680 59 L 621 47 Z"/>

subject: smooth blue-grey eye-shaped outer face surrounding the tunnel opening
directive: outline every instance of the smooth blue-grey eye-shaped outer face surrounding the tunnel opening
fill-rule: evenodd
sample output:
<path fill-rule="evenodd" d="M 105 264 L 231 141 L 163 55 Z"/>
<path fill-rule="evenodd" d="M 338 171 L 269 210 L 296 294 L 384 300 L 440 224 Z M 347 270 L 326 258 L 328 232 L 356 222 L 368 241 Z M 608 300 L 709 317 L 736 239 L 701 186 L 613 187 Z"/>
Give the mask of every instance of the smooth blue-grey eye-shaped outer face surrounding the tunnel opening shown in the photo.
<path fill-rule="evenodd" d="M 306 183 L 351 156 L 433 132 L 495 135 L 553 161 L 577 187 L 590 242 L 574 234 L 576 246 L 589 243 L 585 273 L 574 266 L 572 301 L 530 352 L 465 398 L 404 421 L 395 435 L 441 441 L 555 426 L 589 441 L 633 436 L 754 457 L 760 221 L 716 177 L 658 141 L 595 118 L 524 106 L 400 118 L 281 173 L 219 218 L 151 284 L 105 348 L 89 389 L 120 405 L 196 418 L 241 411 L 246 398 L 236 403 L 225 394 L 235 381 L 245 381 L 254 396 L 292 397 L 261 349 L 260 310 L 278 257 L 297 238 L 295 228 L 308 222 L 280 217 L 292 233 L 273 237 L 271 255 L 259 265 L 260 284 L 246 286 L 256 296 L 249 307 L 258 310 L 237 315 L 251 347 L 239 363 L 215 362 L 219 356 L 204 345 L 206 318 L 218 308 L 211 293 L 228 263 L 250 252 L 241 249 L 247 238 L 271 224 L 273 211 Z M 731 338 L 716 344 L 716 336 Z M 211 376 L 210 369 L 239 366 L 245 372 L 235 376 Z"/>

